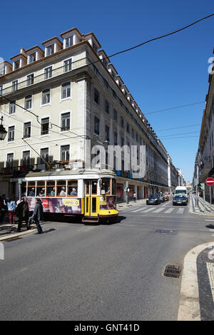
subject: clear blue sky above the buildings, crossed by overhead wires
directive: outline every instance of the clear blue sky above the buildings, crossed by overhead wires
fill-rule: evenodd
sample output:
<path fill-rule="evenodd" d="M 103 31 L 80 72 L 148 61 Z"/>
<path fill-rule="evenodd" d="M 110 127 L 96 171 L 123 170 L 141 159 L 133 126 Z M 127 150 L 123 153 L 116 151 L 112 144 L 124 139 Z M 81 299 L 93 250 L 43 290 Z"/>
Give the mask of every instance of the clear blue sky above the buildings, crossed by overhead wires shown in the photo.
<path fill-rule="evenodd" d="M 2 15 L 4 13 L 5 15 Z M 93 31 L 108 55 L 169 33 L 214 13 L 213 0 L 193 1 L 10 1 L 1 4 L 0 57 L 39 45 L 76 26 Z M 205 103 L 161 113 L 156 110 L 204 101 L 208 58 L 213 56 L 214 17 L 173 36 L 111 58 L 119 75 L 163 141 L 173 163 L 191 180 Z M 151 113 L 151 114 L 147 114 Z M 159 131 L 163 130 L 163 131 Z M 194 132 L 194 133 L 192 133 Z M 197 132 L 197 133 L 195 133 Z M 185 135 L 182 135 L 185 133 Z M 189 133 L 189 134 L 187 134 Z M 175 135 L 180 134 L 180 135 Z M 183 137 L 179 139 L 170 138 Z"/>

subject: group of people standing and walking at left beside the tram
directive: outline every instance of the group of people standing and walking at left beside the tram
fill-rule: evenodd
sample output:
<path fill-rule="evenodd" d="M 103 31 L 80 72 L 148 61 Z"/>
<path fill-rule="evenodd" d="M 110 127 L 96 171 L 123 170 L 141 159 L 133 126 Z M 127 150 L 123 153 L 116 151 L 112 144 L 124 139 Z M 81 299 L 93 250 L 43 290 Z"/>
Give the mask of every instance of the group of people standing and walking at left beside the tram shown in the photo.
<path fill-rule="evenodd" d="M 6 199 L 6 195 L 2 195 L 0 196 L 0 223 L 4 223 L 6 213 L 9 214 L 9 222 L 11 225 L 14 225 L 16 223 L 15 218 L 18 218 L 18 232 L 21 232 L 21 226 L 24 221 L 26 222 L 27 230 L 31 229 L 31 223 L 35 222 L 38 234 L 43 232 L 39 223 L 43 218 L 43 205 L 39 198 L 36 198 L 34 213 L 30 216 L 29 204 L 26 197 L 22 197 L 21 200 L 16 202 L 15 197 Z"/>

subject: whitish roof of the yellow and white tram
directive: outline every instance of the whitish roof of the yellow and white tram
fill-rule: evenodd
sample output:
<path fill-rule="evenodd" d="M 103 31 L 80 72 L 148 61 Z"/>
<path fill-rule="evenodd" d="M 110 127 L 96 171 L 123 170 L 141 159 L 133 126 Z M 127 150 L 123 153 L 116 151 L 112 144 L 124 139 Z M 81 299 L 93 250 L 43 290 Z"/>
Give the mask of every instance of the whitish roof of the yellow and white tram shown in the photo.
<path fill-rule="evenodd" d="M 106 169 L 76 169 L 76 170 L 51 170 L 51 171 L 40 171 L 40 172 L 29 172 L 25 177 L 50 177 L 54 175 L 90 175 L 90 174 L 97 174 L 97 175 L 112 175 L 116 176 L 116 173 L 112 170 Z"/>

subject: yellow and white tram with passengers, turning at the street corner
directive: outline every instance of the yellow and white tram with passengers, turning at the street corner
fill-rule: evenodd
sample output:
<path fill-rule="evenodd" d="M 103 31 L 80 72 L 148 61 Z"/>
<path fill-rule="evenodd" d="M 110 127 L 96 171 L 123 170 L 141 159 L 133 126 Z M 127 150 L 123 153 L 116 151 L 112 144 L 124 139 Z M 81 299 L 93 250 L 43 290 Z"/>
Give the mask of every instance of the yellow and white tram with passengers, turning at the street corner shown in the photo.
<path fill-rule="evenodd" d="M 29 210 L 39 197 L 46 213 L 73 215 L 82 222 L 114 221 L 116 209 L 116 174 L 111 170 L 53 170 L 29 172 L 22 182 Z"/>

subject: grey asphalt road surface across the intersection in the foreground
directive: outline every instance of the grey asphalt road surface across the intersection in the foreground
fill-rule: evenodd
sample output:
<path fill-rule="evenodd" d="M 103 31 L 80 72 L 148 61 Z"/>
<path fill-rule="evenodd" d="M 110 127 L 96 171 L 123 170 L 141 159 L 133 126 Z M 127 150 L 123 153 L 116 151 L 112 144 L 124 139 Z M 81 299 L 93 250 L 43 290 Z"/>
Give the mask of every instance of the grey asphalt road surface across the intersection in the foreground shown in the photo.
<path fill-rule="evenodd" d="M 121 210 L 114 225 L 49 222 L 55 230 L 4 242 L 0 320 L 176 320 L 180 279 L 163 269 L 213 241 L 207 223 L 169 201 Z"/>

